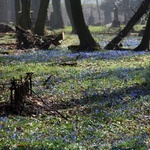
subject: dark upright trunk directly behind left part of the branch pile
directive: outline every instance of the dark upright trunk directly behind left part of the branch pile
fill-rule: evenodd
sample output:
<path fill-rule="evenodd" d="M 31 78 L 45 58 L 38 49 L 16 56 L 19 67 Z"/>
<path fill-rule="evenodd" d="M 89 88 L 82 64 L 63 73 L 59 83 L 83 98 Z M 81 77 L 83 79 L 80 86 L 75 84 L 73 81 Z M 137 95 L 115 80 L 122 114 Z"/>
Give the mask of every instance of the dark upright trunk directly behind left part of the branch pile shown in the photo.
<path fill-rule="evenodd" d="M 30 5 L 31 0 L 21 0 L 22 12 L 19 25 L 25 29 L 31 29 Z"/>

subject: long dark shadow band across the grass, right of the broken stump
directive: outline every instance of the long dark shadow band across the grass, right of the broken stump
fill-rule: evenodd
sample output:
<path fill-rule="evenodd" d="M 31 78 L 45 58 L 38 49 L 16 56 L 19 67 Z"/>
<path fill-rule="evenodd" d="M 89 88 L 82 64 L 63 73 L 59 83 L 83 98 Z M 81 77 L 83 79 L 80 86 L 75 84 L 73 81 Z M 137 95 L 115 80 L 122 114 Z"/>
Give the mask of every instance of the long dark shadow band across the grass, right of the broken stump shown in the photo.
<path fill-rule="evenodd" d="M 58 109 L 68 109 L 77 107 L 78 105 L 84 106 L 86 104 L 93 104 L 95 102 L 100 102 L 106 107 L 113 107 L 118 104 L 125 105 L 128 101 L 122 101 L 124 97 L 130 96 L 132 99 L 138 100 L 140 97 L 150 95 L 150 86 L 148 83 L 143 83 L 141 85 L 134 85 L 129 88 L 122 88 L 112 92 L 104 92 L 103 94 L 93 94 L 84 96 L 81 99 L 71 99 L 68 102 L 60 102 L 51 107 L 56 107 Z M 91 108 L 90 108 L 91 109 Z"/>

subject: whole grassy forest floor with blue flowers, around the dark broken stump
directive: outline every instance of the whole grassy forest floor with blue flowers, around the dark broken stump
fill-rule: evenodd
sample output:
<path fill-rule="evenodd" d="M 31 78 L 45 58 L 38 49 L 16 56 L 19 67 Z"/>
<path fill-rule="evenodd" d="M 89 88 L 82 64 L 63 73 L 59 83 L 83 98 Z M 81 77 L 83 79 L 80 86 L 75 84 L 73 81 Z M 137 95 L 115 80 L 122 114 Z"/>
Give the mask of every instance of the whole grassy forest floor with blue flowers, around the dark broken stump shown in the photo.
<path fill-rule="evenodd" d="M 93 35 L 102 47 L 112 38 Z M 14 35 L 0 42 L 15 43 Z M 131 36 L 123 44 L 139 42 Z M 0 149 L 148 150 L 150 52 L 72 53 L 68 43 L 78 44 L 77 36 L 67 34 L 60 47 L 49 50 L 0 46 L 0 83 L 8 84 L 0 86 Z M 26 72 L 34 73 L 34 93 L 22 113 L 10 114 L 9 82 Z"/>

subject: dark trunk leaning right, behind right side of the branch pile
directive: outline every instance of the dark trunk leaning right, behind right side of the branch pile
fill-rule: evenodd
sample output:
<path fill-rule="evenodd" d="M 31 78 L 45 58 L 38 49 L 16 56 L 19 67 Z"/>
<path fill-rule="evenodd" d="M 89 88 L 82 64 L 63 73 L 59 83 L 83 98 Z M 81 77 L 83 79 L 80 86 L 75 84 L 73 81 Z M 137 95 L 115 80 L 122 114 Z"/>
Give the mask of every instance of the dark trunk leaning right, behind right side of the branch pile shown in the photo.
<path fill-rule="evenodd" d="M 38 35 L 44 35 L 44 28 L 47 18 L 47 9 L 48 9 L 49 0 L 41 0 L 40 8 L 38 13 L 38 18 L 36 20 L 34 33 Z"/>

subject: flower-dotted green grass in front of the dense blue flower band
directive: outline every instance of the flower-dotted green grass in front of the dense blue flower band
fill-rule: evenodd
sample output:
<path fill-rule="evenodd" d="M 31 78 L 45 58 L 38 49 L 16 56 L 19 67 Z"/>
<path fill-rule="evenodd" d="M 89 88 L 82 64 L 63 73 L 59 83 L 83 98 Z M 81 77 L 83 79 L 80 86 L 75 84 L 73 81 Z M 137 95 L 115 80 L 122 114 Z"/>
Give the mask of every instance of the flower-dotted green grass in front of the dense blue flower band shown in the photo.
<path fill-rule="evenodd" d="M 77 67 L 52 65 L 54 60 L 0 60 L 1 79 L 34 72 L 35 92 L 47 102 L 55 101 L 68 118 L 42 112 L 0 118 L 1 149 L 147 150 L 150 146 L 150 55 L 81 59 Z M 45 88 L 50 74 L 54 78 Z M 66 106 L 61 109 L 62 105 Z"/>

